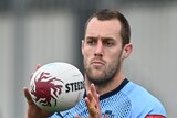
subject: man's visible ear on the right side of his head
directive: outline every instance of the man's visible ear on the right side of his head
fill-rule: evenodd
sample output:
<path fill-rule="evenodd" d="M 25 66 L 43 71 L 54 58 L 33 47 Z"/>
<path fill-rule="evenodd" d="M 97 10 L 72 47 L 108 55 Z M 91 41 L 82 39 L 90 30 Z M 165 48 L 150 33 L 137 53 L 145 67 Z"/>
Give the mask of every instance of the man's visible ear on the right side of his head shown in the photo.
<path fill-rule="evenodd" d="M 131 55 L 132 51 L 133 51 L 133 45 L 131 43 L 125 44 L 125 46 L 123 47 L 123 54 L 122 54 L 123 60 L 127 58 Z"/>

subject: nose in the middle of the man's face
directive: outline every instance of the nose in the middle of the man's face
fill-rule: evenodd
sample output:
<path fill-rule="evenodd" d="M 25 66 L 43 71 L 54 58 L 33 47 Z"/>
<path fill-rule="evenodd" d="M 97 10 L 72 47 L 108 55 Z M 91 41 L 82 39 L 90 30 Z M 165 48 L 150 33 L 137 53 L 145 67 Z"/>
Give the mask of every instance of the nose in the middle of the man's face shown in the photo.
<path fill-rule="evenodd" d="M 94 55 L 95 56 L 103 56 L 103 44 L 102 44 L 101 41 L 98 41 L 96 46 L 95 46 Z"/>

